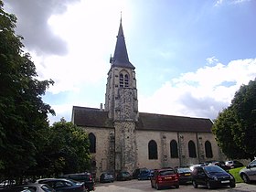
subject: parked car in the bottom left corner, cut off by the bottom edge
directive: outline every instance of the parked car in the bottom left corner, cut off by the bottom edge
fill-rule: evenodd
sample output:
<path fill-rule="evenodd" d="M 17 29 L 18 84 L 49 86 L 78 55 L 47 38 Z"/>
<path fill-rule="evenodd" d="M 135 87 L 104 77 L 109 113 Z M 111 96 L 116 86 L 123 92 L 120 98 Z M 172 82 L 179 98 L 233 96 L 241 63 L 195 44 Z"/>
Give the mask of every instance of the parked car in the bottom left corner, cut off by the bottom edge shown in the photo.
<path fill-rule="evenodd" d="M 23 186 L 13 186 L 1 190 L 1 192 L 55 192 L 52 187 L 49 187 L 47 184 L 27 184 Z"/>

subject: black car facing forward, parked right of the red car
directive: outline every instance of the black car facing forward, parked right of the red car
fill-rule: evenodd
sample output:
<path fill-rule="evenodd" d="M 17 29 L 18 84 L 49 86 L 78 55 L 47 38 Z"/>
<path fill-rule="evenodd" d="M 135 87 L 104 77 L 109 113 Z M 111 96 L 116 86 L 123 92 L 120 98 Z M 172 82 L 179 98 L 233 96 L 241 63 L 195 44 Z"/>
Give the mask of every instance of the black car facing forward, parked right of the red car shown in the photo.
<path fill-rule="evenodd" d="M 214 187 L 236 187 L 234 176 L 230 175 L 224 169 L 217 165 L 197 166 L 194 167 L 192 174 L 192 184 L 195 188 L 198 185 L 208 188 Z"/>

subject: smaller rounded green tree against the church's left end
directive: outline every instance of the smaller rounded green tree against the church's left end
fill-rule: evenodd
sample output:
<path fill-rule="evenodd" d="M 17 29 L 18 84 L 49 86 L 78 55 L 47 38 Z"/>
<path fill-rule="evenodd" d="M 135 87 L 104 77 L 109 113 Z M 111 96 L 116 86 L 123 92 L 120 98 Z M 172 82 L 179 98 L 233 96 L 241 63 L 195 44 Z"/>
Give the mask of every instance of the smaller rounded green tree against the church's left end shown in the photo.
<path fill-rule="evenodd" d="M 62 118 L 45 133 L 45 145 L 37 154 L 38 164 L 32 167 L 32 175 L 59 176 L 90 169 L 90 140 L 81 128 Z"/>

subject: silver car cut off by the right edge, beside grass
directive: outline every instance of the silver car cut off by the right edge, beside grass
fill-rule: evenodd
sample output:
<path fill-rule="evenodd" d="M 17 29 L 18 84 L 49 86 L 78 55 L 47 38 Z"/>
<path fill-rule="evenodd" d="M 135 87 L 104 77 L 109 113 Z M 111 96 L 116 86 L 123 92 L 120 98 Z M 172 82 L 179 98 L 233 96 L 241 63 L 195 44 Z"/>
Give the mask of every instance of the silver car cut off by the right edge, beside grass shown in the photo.
<path fill-rule="evenodd" d="M 240 169 L 240 177 L 245 183 L 256 181 L 256 159 L 251 161 L 246 167 Z"/>

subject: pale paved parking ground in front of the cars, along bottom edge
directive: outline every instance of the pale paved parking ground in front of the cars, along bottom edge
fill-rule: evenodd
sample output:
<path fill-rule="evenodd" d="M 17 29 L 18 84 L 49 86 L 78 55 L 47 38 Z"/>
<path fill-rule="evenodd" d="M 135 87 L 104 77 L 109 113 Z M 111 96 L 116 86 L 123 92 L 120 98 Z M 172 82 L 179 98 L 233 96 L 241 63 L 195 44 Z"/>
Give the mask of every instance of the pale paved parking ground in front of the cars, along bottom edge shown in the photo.
<path fill-rule="evenodd" d="M 198 186 L 198 188 L 194 188 L 192 185 L 188 186 L 180 186 L 178 189 L 169 188 L 169 189 L 162 189 L 159 191 L 178 191 L 178 192 L 203 192 L 208 190 L 206 187 Z M 143 191 L 155 191 L 155 188 L 151 187 L 150 181 L 138 181 L 138 180 L 131 180 L 131 181 L 115 181 L 113 183 L 106 183 L 106 184 L 96 184 L 95 192 L 143 192 Z M 256 185 L 255 184 L 244 184 L 240 183 L 237 184 L 235 188 L 230 187 L 222 187 L 218 189 L 211 189 L 208 191 L 215 191 L 215 192 L 256 192 Z"/>

